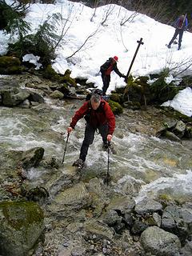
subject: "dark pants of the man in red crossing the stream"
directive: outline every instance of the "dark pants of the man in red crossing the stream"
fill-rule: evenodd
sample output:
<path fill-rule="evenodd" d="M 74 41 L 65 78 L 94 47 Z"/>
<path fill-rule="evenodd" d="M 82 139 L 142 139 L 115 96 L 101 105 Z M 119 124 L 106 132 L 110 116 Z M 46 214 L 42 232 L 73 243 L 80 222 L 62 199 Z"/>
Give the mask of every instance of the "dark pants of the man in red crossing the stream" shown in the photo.
<path fill-rule="evenodd" d="M 82 142 L 82 147 L 80 151 L 80 156 L 79 158 L 82 159 L 83 162 L 86 161 L 86 155 L 89 150 L 89 146 L 93 143 L 94 141 L 94 133 L 98 129 L 99 134 L 102 135 L 102 141 L 103 143 L 107 143 L 107 132 L 108 132 L 108 124 L 106 123 L 105 125 L 98 126 L 98 128 L 94 128 L 93 126 L 90 126 L 89 123 L 86 123 L 86 130 L 85 130 L 85 136 L 84 140 Z"/>

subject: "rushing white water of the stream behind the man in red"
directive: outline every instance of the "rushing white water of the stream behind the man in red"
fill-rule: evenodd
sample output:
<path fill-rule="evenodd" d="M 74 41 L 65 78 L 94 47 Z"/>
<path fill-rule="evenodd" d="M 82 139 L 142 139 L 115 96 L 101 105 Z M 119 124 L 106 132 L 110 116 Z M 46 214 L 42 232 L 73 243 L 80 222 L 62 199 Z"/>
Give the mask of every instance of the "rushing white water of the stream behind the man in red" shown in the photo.
<path fill-rule="evenodd" d="M 66 128 L 82 101 L 50 101 L 26 108 L 0 108 L 0 150 L 28 150 L 35 146 L 45 149 L 45 156 L 55 156 L 62 161 L 66 146 Z M 126 110 L 125 110 L 126 111 Z M 181 142 L 170 142 L 146 134 L 131 133 L 126 114 L 116 118 L 113 143 L 116 154 L 110 153 L 110 174 L 114 190 L 126 193 L 127 182 L 141 184 L 137 201 L 158 194 L 170 194 L 172 198 L 185 200 L 192 195 L 191 149 Z M 63 172 L 70 172 L 78 158 L 82 144 L 85 121 L 78 122 L 70 134 L 66 148 Z M 190 141 L 189 141 L 190 143 Z M 106 170 L 107 152 L 102 150 L 102 138 L 95 135 L 94 144 L 87 155 L 87 170 Z M 28 174 L 31 182 L 42 182 L 45 170 L 32 168 Z"/>

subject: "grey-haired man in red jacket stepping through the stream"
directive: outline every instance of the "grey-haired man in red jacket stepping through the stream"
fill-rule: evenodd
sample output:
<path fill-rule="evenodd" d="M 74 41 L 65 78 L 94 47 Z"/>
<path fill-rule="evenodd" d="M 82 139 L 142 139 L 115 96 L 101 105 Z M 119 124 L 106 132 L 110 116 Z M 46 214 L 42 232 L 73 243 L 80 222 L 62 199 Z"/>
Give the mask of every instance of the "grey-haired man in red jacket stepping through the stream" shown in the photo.
<path fill-rule="evenodd" d="M 83 117 L 86 119 L 85 137 L 82 142 L 79 159 L 73 164 L 73 166 L 78 166 L 79 168 L 84 166 L 89 146 L 94 141 L 95 131 L 98 129 L 102 136 L 103 145 L 107 148 L 108 142 L 112 139 L 115 127 L 115 118 L 109 103 L 103 100 L 101 95 L 96 93 L 93 93 L 90 101 L 86 101 L 76 111 L 72 122 L 70 122 L 70 127 L 67 128 L 67 132 L 70 133 L 78 120 Z"/>

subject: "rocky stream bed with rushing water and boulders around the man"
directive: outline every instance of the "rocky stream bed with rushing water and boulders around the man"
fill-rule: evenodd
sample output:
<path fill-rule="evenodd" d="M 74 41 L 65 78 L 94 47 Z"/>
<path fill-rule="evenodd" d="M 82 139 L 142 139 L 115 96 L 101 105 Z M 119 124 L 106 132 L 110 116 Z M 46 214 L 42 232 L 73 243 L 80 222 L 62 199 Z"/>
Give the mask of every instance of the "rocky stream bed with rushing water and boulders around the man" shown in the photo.
<path fill-rule="evenodd" d="M 84 99 L 53 96 L 57 86 L 32 74 L 0 78 L 0 254 L 190 256 L 190 118 L 159 106 L 124 108 L 106 186 L 99 134 L 87 167 L 72 166 L 84 120 L 62 164 L 66 128 Z"/>

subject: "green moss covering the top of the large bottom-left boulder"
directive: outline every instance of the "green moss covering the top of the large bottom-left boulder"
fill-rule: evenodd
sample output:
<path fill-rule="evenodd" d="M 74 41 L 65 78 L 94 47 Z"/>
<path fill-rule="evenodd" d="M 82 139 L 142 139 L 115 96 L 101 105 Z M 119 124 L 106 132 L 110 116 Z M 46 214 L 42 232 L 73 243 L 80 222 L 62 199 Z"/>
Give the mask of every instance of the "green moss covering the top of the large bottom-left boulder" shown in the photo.
<path fill-rule="evenodd" d="M 0 202 L 0 210 L 15 230 L 34 222 L 43 222 L 44 218 L 42 209 L 34 202 Z"/>

